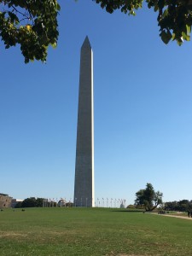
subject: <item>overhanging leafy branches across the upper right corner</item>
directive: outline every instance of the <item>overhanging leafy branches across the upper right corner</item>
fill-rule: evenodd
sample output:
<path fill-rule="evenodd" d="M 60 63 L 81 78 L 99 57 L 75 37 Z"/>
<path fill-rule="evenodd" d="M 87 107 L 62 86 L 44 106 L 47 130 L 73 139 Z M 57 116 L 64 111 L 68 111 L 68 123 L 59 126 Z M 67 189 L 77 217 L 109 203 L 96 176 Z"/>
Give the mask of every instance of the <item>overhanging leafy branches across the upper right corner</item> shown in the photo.
<path fill-rule="evenodd" d="M 102 9 L 112 14 L 120 9 L 122 13 L 136 15 L 136 10 L 143 7 L 143 0 L 94 0 Z M 192 25 L 192 0 L 146 0 L 149 9 L 158 13 L 160 38 L 165 44 L 176 40 L 181 45 L 183 40 L 190 40 Z"/>

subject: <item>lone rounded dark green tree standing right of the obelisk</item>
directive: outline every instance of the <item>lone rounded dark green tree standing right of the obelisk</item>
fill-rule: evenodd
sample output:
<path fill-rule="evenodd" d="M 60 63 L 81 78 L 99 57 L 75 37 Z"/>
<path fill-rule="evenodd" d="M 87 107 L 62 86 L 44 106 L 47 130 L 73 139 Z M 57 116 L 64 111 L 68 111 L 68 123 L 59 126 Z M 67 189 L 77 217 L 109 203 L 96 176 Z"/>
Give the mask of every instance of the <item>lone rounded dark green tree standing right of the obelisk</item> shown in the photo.
<path fill-rule="evenodd" d="M 160 191 L 154 191 L 151 183 L 147 183 L 146 189 L 137 191 L 135 205 L 144 207 L 146 211 L 153 211 L 162 203 L 162 196 Z"/>

